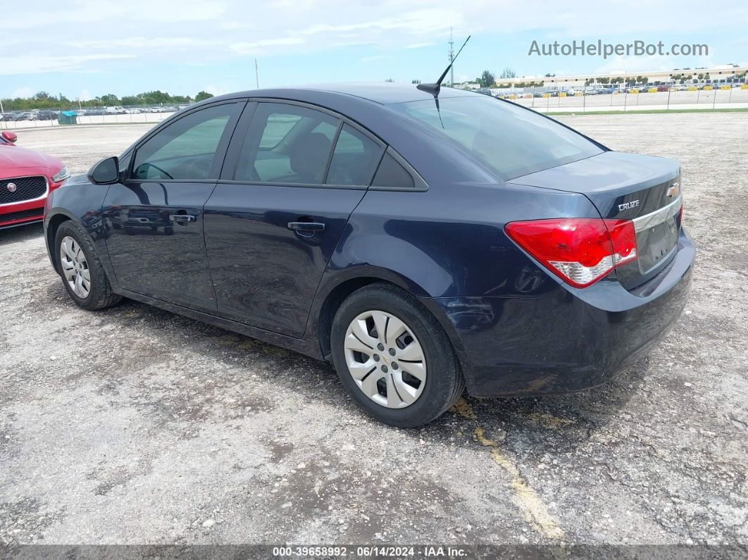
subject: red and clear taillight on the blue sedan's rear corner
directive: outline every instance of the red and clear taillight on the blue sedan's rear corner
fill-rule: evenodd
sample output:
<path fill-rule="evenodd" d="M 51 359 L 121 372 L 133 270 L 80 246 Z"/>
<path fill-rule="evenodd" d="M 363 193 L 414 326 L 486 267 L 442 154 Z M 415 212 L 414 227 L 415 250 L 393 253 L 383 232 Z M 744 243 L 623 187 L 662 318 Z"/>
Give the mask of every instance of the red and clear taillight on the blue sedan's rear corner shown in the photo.
<path fill-rule="evenodd" d="M 515 221 L 506 235 L 566 283 L 584 288 L 637 259 L 631 220 L 559 218 Z"/>

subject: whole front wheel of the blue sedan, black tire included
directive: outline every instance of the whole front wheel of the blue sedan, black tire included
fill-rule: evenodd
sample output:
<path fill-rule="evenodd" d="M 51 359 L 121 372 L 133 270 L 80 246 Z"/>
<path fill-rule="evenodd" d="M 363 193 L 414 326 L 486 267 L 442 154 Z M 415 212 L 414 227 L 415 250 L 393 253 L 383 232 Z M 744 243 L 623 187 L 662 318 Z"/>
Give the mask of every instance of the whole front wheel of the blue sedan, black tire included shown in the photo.
<path fill-rule="evenodd" d="M 66 221 L 55 234 L 55 259 L 68 295 L 79 307 L 101 310 L 118 304 L 122 296 L 111 284 L 88 236 L 78 224 Z"/>

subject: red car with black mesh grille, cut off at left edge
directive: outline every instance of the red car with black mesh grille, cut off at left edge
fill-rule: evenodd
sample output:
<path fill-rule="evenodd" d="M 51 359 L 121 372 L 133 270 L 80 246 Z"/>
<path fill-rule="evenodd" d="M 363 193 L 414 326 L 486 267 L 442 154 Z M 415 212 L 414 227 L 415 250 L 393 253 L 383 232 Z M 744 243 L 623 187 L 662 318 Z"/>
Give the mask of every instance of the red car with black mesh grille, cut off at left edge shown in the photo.
<path fill-rule="evenodd" d="M 70 176 L 62 161 L 16 139 L 10 130 L 0 134 L 0 229 L 41 221 L 46 197 Z"/>

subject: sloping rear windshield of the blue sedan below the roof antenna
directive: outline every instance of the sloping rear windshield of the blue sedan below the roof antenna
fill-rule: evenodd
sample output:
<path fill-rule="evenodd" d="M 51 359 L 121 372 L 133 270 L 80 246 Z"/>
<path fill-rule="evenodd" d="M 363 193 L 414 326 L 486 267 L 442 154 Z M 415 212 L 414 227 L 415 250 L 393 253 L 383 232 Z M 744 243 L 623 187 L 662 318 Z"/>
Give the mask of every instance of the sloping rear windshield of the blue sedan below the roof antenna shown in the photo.
<path fill-rule="evenodd" d="M 554 120 L 488 96 L 439 99 L 439 111 L 431 99 L 390 106 L 468 150 L 505 181 L 603 151 Z"/>

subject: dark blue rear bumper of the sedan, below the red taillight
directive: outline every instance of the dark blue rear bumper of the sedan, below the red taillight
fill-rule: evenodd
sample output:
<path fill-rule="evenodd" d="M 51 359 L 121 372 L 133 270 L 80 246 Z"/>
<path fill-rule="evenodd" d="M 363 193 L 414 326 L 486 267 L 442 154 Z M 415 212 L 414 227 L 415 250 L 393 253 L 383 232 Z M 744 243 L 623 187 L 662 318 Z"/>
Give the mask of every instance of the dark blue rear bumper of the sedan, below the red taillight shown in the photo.
<path fill-rule="evenodd" d="M 532 292 L 433 298 L 453 326 L 474 396 L 568 393 L 603 384 L 646 354 L 681 316 L 694 247 L 681 230 L 667 267 L 633 292 L 617 280 L 574 289 L 542 272 Z"/>

